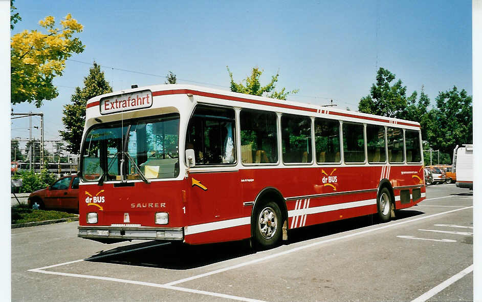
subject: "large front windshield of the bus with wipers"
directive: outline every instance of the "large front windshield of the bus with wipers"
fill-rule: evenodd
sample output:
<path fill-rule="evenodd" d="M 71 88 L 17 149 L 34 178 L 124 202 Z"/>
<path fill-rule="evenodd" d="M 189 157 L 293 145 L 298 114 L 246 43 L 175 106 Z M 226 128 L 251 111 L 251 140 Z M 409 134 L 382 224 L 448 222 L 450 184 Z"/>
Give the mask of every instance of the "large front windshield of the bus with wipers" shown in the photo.
<path fill-rule="evenodd" d="M 83 181 L 175 178 L 179 175 L 179 114 L 95 125 L 85 135 Z M 137 166 L 137 167 L 136 167 Z"/>

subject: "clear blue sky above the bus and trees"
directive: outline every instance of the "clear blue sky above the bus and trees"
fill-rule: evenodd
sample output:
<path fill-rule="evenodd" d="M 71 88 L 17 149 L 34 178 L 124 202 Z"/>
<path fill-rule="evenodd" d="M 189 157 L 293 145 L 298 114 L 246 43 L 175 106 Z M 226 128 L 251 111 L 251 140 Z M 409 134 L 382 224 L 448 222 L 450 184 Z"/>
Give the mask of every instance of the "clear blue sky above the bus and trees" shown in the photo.
<path fill-rule="evenodd" d="M 59 139 L 62 107 L 74 87 L 83 87 L 89 64 L 102 66 L 114 90 L 163 83 L 168 71 L 178 83 L 229 90 L 229 66 L 237 82 L 254 66 L 261 83 L 279 70 L 277 88 L 299 89 L 289 100 L 357 110 L 369 94 L 377 67 L 395 73 L 407 94 L 422 85 L 432 103 L 456 85 L 472 94 L 471 1 L 167 2 L 16 0 L 22 20 L 12 35 L 39 29 L 48 15 L 58 22 L 71 13 L 84 26 L 86 46 L 67 61 L 59 96 L 37 109 L 23 103 L 14 112 L 45 113 L 46 139 Z M 74 61 L 75 60 L 75 61 Z M 81 61 L 81 62 L 77 62 Z M 148 76 L 116 69 L 159 75 Z M 194 82 L 193 82 L 194 81 Z M 39 119 L 33 118 L 39 125 Z M 28 119 L 16 119 L 12 137 L 28 138 Z M 39 137 L 37 130 L 33 136 Z"/>

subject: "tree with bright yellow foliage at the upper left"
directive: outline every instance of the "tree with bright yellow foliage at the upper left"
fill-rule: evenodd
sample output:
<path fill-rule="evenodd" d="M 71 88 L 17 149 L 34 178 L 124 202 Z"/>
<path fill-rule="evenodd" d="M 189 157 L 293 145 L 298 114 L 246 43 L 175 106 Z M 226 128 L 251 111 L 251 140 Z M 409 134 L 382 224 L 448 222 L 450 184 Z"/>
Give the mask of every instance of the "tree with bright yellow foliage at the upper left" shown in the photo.
<path fill-rule="evenodd" d="M 58 96 L 52 80 L 61 76 L 65 60 L 73 53 L 83 52 L 85 46 L 74 33 L 83 26 L 71 14 L 60 21 L 62 28 L 55 28 L 55 19 L 48 16 L 39 21 L 48 33 L 25 30 L 11 37 L 11 102 L 28 101 L 40 107 L 43 100 Z"/>

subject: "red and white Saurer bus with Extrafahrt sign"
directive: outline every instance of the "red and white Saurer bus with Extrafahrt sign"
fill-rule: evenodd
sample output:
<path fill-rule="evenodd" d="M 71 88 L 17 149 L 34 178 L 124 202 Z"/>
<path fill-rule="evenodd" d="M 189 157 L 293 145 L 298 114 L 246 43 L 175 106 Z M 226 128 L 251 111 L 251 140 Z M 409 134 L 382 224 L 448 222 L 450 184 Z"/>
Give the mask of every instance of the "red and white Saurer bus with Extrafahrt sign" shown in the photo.
<path fill-rule="evenodd" d="M 253 239 L 425 199 L 420 124 L 192 85 L 87 102 L 79 233 L 104 243 Z"/>

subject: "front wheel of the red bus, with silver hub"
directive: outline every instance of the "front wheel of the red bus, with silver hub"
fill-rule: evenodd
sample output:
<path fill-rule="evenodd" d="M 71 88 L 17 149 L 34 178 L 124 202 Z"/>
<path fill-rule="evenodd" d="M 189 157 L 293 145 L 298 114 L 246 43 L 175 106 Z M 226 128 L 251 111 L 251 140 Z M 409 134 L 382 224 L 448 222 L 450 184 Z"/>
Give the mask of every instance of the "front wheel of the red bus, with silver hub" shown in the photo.
<path fill-rule="evenodd" d="M 261 204 L 255 211 L 254 221 L 256 247 L 269 249 L 275 246 L 281 237 L 283 224 L 279 206 L 272 201 Z"/>

